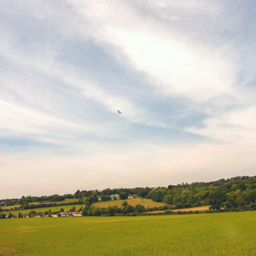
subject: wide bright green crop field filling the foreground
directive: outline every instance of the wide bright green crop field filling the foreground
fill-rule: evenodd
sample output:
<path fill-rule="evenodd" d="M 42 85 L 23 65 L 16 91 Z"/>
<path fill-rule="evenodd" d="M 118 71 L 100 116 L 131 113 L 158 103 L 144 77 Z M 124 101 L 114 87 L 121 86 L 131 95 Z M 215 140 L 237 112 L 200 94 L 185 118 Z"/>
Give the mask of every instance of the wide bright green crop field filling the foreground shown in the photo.
<path fill-rule="evenodd" d="M 256 212 L 0 220 L 0 254 L 256 255 Z"/>

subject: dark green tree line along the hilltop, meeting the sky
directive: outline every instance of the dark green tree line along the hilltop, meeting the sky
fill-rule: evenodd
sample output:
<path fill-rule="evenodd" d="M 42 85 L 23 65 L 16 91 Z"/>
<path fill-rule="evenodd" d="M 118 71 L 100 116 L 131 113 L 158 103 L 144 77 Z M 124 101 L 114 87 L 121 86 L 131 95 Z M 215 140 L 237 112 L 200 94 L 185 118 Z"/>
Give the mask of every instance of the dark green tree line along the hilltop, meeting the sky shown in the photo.
<path fill-rule="evenodd" d="M 112 196 L 111 196 L 112 195 Z M 32 205 L 35 201 L 63 201 L 67 198 L 75 198 L 74 203 L 84 203 L 90 207 L 96 201 L 109 201 L 117 199 L 125 200 L 128 195 L 148 198 L 157 202 L 164 202 L 172 209 L 201 207 L 211 205 L 212 209 L 234 209 L 252 207 L 256 203 L 256 176 L 231 177 L 212 182 L 181 183 L 168 185 L 167 187 L 137 187 L 133 189 L 103 189 L 101 190 L 77 190 L 74 194 L 50 195 L 50 196 L 22 196 L 20 199 L 1 200 L 1 205 L 20 207 L 50 207 L 50 204 Z"/>

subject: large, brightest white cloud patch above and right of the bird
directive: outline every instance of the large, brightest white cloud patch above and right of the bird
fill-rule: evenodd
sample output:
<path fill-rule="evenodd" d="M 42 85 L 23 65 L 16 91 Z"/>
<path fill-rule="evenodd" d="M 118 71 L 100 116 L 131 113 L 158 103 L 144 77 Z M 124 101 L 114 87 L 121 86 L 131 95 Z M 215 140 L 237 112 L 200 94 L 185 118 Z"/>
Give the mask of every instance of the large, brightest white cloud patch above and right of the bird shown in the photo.
<path fill-rule="evenodd" d="M 237 67 L 229 44 L 214 49 L 211 44 L 189 40 L 186 34 L 162 26 L 153 18 L 145 23 L 144 17 L 125 3 L 72 4 L 94 22 L 93 37 L 119 49 L 115 52 L 117 59 L 125 56 L 126 61 L 119 59 L 123 65 L 146 73 L 151 84 L 164 94 L 185 96 L 195 102 L 223 95 L 241 97 L 234 88 Z M 201 15 L 209 12 L 205 3 L 192 5 Z M 188 6 L 178 4 L 178 8 Z M 108 45 L 105 47 L 108 49 Z"/>

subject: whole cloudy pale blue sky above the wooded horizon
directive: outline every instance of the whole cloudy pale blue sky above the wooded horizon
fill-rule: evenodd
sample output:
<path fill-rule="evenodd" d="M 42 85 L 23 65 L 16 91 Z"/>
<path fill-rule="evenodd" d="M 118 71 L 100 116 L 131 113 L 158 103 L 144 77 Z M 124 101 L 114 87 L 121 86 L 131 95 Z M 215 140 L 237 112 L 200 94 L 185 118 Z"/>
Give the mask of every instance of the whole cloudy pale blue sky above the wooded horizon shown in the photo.
<path fill-rule="evenodd" d="M 255 1 L 0 3 L 0 198 L 256 174 Z"/>

